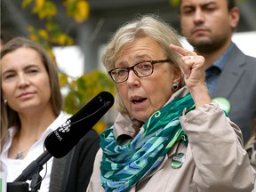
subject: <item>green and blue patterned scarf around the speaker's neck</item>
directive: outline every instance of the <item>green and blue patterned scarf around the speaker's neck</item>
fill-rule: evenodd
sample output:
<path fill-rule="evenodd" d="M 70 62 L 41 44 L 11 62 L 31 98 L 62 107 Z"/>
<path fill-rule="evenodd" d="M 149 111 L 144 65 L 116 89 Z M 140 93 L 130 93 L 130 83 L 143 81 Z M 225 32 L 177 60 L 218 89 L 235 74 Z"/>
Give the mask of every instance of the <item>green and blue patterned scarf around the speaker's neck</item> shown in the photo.
<path fill-rule="evenodd" d="M 100 134 L 103 150 L 101 185 L 106 191 L 129 191 L 139 180 L 156 170 L 178 140 L 188 145 L 179 117 L 184 108 L 195 108 L 191 95 L 177 98 L 160 108 L 141 127 L 133 140 L 123 146 L 114 138 L 113 126 Z"/>

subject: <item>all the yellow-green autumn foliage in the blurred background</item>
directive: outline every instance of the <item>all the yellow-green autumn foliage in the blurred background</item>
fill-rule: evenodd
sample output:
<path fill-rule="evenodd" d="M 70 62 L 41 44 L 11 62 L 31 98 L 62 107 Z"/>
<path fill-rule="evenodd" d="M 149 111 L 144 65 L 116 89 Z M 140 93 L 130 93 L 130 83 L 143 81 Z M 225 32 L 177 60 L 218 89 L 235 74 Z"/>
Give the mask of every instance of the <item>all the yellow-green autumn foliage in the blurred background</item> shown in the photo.
<path fill-rule="evenodd" d="M 86 0 L 62 0 L 61 3 L 66 8 L 67 16 L 73 18 L 77 23 L 82 23 L 89 18 L 90 4 Z M 58 9 L 56 4 L 50 0 L 22 0 L 22 9 L 29 9 L 30 12 L 45 21 L 44 28 L 28 26 L 29 38 L 42 44 L 44 49 L 50 53 L 55 60 L 52 52 L 53 44 L 60 46 L 74 44 L 72 36 L 61 31 L 57 22 L 54 21 Z M 92 100 L 99 92 L 107 91 L 114 94 L 114 84 L 110 78 L 100 70 L 84 74 L 77 79 L 72 79 L 64 73 L 59 73 L 61 89 L 68 90 L 64 96 L 64 108 L 68 114 L 75 114 L 87 102 Z M 99 121 L 93 127 L 97 132 L 102 132 L 107 124 Z"/>

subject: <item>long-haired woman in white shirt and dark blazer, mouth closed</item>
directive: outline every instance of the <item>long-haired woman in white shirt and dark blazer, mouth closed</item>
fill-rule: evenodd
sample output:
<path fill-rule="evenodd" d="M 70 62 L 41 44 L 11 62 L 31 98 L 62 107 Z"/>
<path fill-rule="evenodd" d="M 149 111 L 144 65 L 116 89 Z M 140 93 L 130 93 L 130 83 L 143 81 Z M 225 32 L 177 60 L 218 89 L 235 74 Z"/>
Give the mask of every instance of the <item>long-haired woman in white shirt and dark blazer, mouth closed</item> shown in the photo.
<path fill-rule="evenodd" d="M 16 37 L 1 50 L 0 171 L 7 182 L 44 152 L 46 136 L 64 124 L 55 64 L 44 48 Z M 92 174 L 99 135 L 90 131 L 76 148 L 60 159 L 51 158 L 40 172 L 40 192 L 81 191 Z"/>

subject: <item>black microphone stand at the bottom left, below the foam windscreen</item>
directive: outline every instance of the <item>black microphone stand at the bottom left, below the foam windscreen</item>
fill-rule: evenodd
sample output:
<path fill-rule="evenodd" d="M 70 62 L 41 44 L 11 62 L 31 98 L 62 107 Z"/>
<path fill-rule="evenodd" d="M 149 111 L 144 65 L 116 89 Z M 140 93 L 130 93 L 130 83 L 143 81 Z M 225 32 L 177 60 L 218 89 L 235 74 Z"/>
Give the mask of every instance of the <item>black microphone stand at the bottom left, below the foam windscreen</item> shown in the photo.
<path fill-rule="evenodd" d="M 33 161 L 31 164 L 28 164 L 28 166 L 21 172 L 20 176 L 16 180 L 11 183 L 7 183 L 7 192 L 29 191 L 28 183 L 25 182 L 26 180 L 31 180 L 31 192 L 36 192 L 38 189 L 40 189 L 42 177 L 40 176 L 39 172 L 43 170 L 43 165 L 50 158 L 52 158 L 52 155 L 47 150 L 45 150 L 44 153 L 35 161 Z"/>

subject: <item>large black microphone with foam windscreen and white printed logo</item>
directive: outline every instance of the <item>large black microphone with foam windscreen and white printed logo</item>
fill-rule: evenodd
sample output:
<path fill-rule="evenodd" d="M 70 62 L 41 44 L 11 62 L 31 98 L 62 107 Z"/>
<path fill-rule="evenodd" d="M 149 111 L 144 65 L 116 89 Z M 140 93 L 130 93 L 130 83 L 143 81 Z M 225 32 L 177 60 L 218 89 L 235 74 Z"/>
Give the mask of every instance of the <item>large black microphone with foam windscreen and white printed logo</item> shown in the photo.
<path fill-rule="evenodd" d="M 60 158 L 76 146 L 84 135 L 89 132 L 108 109 L 114 104 L 114 97 L 109 92 L 100 92 L 81 108 L 74 116 L 68 118 L 57 130 L 51 132 L 44 140 L 46 150 L 35 161 L 23 170 L 14 182 L 32 180 L 36 172 L 43 169 L 43 165 L 52 156 Z"/>

